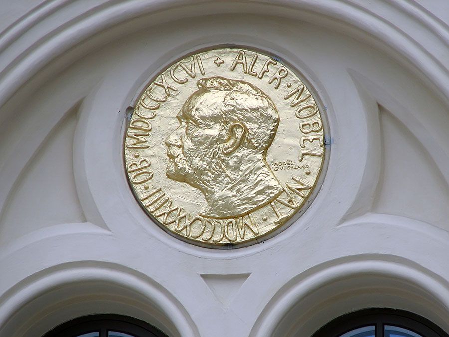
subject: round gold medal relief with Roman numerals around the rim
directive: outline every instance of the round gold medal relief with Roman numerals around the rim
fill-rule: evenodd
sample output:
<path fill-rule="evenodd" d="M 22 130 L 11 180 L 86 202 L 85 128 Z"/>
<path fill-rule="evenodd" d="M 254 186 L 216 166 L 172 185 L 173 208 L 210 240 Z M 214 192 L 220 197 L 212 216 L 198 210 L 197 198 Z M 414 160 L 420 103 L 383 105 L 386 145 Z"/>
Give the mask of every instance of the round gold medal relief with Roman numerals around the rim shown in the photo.
<path fill-rule="evenodd" d="M 168 66 L 140 96 L 125 166 L 146 213 L 207 247 L 285 227 L 316 188 L 324 130 L 312 93 L 260 52 L 221 48 Z"/>

